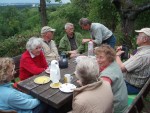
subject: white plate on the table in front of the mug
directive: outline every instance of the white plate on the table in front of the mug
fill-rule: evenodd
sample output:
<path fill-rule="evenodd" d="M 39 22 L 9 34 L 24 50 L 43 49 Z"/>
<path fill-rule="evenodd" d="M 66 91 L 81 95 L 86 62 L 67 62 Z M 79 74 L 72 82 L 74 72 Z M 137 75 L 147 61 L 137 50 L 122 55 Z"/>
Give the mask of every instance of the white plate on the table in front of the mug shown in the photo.
<path fill-rule="evenodd" d="M 65 93 L 70 93 L 70 92 L 73 92 L 73 90 L 76 88 L 76 86 L 74 84 L 70 84 L 70 83 L 65 83 L 65 84 L 62 84 L 59 89 L 60 91 L 62 92 L 65 92 Z"/>

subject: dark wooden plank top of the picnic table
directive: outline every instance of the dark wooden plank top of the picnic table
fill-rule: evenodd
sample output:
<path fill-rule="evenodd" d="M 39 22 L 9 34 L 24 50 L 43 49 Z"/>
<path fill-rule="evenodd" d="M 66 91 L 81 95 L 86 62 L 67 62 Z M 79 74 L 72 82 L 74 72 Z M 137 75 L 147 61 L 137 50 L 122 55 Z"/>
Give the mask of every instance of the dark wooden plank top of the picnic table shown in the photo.
<path fill-rule="evenodd" d="M 74 59 L 70 59 L 68 63 L 68 68 L 66 69 L 61 69 L 61 83 L 64 83 L 64 74 L 73 74 L 75 71 L 75 66 L 76 63 L 73 62 Z M 35 75 L 33 77 L 30 77 L 24 81 L 21 81 L 18 83 L 18 87 L 21 90 L 24 90 L 28 94 L 32 95 L 35 98 L 38 98 L 39 100 L 49 104 L 50 106 L 59 109 L 62 107 L 65 103 L 68 101 L 72 100 L 73 93 L 63 93 L 59 89 L 53 89 L 50 87 L 50 83 L 38 85 L 34 83 L 34 79 L 38 76 L 46 75 L 49 76 L 49 74 L 43 72 L 39 75 Z M 76 77 L 73 75 L 73 80 L 72 84 L 75 84 L 78 86 L 76 83 Z"/>

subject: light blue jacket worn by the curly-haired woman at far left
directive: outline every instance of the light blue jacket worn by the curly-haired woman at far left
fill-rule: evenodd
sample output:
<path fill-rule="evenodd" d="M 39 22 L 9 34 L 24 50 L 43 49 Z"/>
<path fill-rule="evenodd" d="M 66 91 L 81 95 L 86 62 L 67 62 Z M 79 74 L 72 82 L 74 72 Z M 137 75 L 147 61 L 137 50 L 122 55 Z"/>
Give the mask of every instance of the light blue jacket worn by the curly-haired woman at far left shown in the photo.
<path fill-rule="evenodd" d="M 0 85 L 0 110 L 16 110 L 17 113 L 32 113 L 40 101 L 14 89 L 11 83 Z"/>

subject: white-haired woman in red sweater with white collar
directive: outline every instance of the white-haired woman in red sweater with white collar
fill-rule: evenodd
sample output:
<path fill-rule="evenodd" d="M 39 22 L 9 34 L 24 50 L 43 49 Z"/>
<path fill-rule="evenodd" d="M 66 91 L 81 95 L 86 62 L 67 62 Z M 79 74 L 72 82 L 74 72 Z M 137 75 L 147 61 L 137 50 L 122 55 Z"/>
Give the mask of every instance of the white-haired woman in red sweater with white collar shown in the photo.
<path fill-rule="evenodd" d="M 20 80 L 40 74 L 48 67 L 39 38 L 30 38 L 26 44 L 26 49 L 20 59 Z"/>

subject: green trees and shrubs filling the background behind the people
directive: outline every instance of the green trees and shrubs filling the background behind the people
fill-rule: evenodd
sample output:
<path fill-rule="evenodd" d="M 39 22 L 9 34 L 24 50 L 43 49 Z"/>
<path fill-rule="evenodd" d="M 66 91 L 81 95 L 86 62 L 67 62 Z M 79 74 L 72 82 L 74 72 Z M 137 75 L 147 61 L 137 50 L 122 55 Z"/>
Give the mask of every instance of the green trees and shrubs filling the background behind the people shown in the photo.
<path fill-rule="evenodd" d="M 148 1 L 133 0 L 136 7 Z M 38 7 L 24 9 L 0 7 L 0 10 L 0 56 L 22 54 L 30 37 L 40 37 L 41 20 Z M 149 27 L 149 14 L 150 11 L 141 13 L 135 21 L 134 28 Z M 67 22 L 73 23 L 75 31 L 80 32 L 85 38 L 90 37 L 89 32 L 82 30 L 78 24 L 82 17 L 100 22 L 111 29 L 117 37 L 117 45 L 126 40 L 121 30 L 121 19 L 111 0 L 71 0 L 71 3 L 65 5 L 47 7 L 47 16 L 48 26 L 56 29 L 54 40 L 57 45 L 65 34 L 64 25 Z M 135 33 L 130 38 L 135 48 Z"/>

